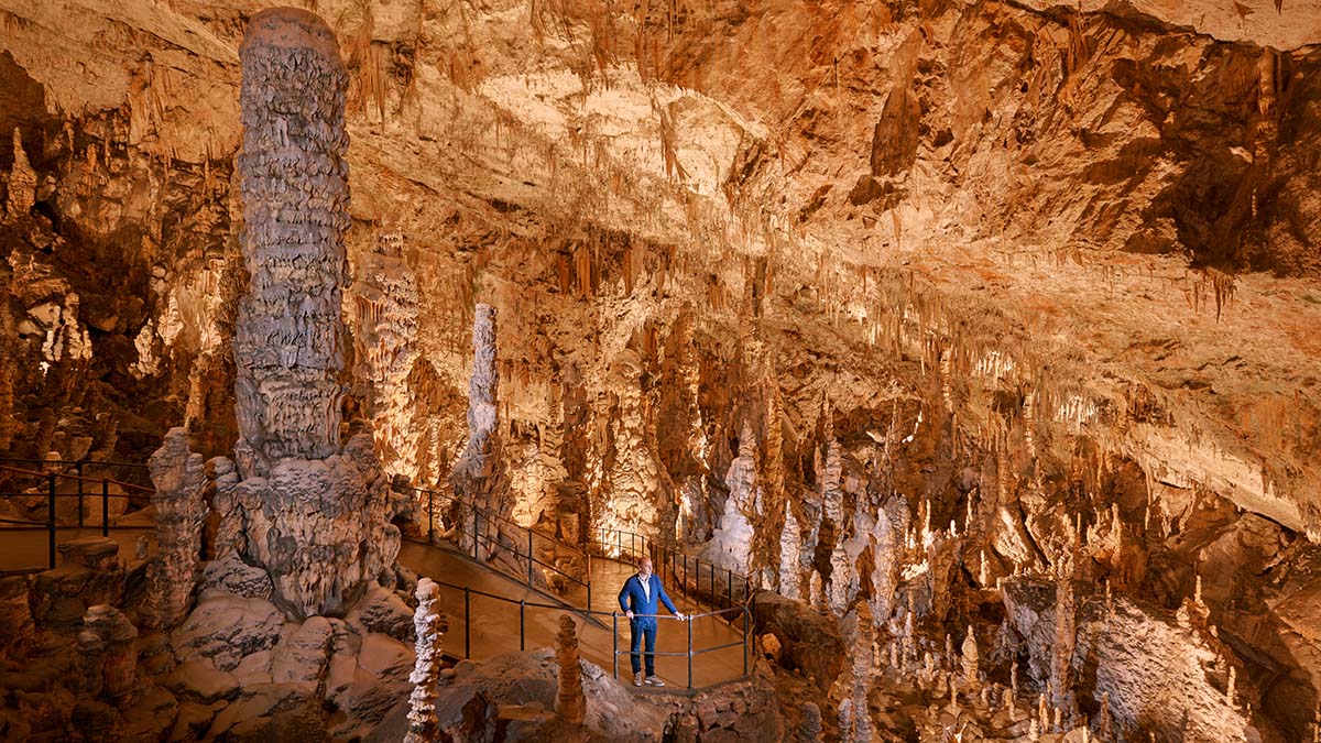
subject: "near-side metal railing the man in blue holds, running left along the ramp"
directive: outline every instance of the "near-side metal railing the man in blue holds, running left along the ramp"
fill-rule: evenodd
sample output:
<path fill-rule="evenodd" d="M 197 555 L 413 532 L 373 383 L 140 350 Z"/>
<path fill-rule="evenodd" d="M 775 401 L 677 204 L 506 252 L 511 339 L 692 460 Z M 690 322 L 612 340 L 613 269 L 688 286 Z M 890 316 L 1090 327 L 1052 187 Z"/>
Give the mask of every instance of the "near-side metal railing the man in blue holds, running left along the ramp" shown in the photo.
<path fill-rule="evenodd" d="M 610 673 L 612 673 L 612 676 L 614 678 L 620 677 L 620 656 L 630 656 L 630 654 L 633 654 L 631 646 L 627 646 L 627 648 L 624 648 L 624 649 L 620 648 L 620 619 L 624 617 L 624 615 L 620 613 L 620 612 L 617 612 L 617 611 L 609 611 L 608 612 L 608 611 L 577 609 L 577 608 L 572 608 L 572 607 L 564 607 L 564 606 L 560 606 L 560 604 L 543 604 L 543 603 L 528 602 L 526 599 L 510 599 L 507 596 L 501 596 L 498 594 L 490 594 L 490 592 L 486 592 L 486 591 L 480 591 L 480 590 L 472 588 L 469 586 L 457 586 L 454 583 L 448 583 L 448 582 L 444 582 L 444 580 L 435 580 L 435 583 L 437 586 L 444 587 L 444 588 L 449 588 L 452 591 L 461 591 L 462 592 L 462 596 L 464 596 L 464 615 L 462 615 L 464 656 L 462 657 L 465 657 L 465 658 L 473 658 L 473 640 L 472 640 L 473 613 L 472 613 L 472 608 L 473 608 L 473 598 L 474 596 L 477 596 L 477 598 L 485 598 L 485 599 L 491 599 L 491 600 L 498 602 L 499 604 L 509 606 L 509 607 L 518 606 L 518 649 L 520 652 L 527 649 L 527 624 L 528 624 L 527 615 L 528 615 L 528 609 L 543 609 L 543 611 L 552 611 L 552 612 L 573 612 L 573 613 L 580 613 L 580 615 L 588 615 L 590 617 L 610 617 L 609 627 L 610 627 L 610 635 L 612 635 L 612 639 L 613 639 L 612 640 L 612 648 L 610 648 L 610 656 L 612 656 Z M 660 616 L 660 615 L 634 615 L 634 616 Z M 453 615 L 450 615 L 450 619 L 453 619 Z M 487 615 L 487 619 L 489 619 L 489 615 Z M 740 636 L 740 639 L 736 640 L 736 641 L 732 641 L 732 643 L 723 643 L 723 644 L 704 646 L 704 648 L 703 646 L 694 646 L 694 637 L 692 637 L 694 624 L 696 621 L 704 620 L 704 619 L 717 619 L 721 623 L 728 624 L 729 627 L 733 627 L 736 623 L 740 623 L 741 624 L 741 628 L 740 628 L 741 636 Z M 692 684 L 692 680 L 694 680 L 692 658 L 700 657 L 700 656 L 704 656 L 704 654 L 708 654 L 708 653 L 716 653 L 716 652 L 720 652 L 720 650 L 728 650 L 728 649 L 732 649 L 732 648 L 740 648 L 741 646 L 742 648 L 742 670 L 741 670 L 741 673 L 738 676 L 734 676 L 734 677 L 731 677 L 731 678 L 723 678 L 723 680 L 719 680 L 716 682 L 708 684 L 707 687 L 715 686 L 717 684 L 725 684 L 728 681 L 734 681 L 734 680 L 738 680 L 738 678 L 745 678 L 748 676 L 748 665 L 749 665 L 749 661 L 750 661 L 750 657 L 749 657 L 749 640 L 752 637 L 752 619 L 753 619 L 753 606 L 752 606 L 750 602 L 745 603 L 745 604 L 741 604 L 741 606 L 731 607 L 731 608 L 724 608 L 724 609 L 716 609 L 716 611 L 709 611 L 709 612 L 701 612 L 701 613 L 688 615 L 687 619 L 684 620 L 684 624 L 687 624 L 687 649 L 686 650 L 682 650 L 682 652 L 679 652 L 679 650 L 655 650 L 655 652 L 647 653 L 647 654 L 653 654 L 653 656 L 657 656 L 657 657 L 683 657 L 683 658 L 687 658 L 687 689 L 691 690 L 691 689 L 694 689 L 694 684 Z M 454 631 L 454 628 L 450 627 L 450 632 L 453 632 L 453 631 Z M 593 645 L 588 644 L 588 646 L 590 648 Z M 601 652 L 604 653 L 604 649 Z M 638 654 L 642 654 L 642 650 L 639 650 Z"/>

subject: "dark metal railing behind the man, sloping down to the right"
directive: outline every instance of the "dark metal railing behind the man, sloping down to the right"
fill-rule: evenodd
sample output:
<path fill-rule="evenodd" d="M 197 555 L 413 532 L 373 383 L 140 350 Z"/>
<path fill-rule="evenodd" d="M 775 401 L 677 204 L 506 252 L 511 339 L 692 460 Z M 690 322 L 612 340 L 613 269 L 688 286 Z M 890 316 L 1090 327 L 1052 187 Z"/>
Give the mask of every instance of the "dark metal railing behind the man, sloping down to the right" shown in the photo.
<path fill-rule="evenodd" d="M 592 542 L 592 549 L 600 550 L 601 557 L 634 561 L 647 555 L 651 558 L 657 574 L 662 579 L 668 575 L 668 583 L 676 586 L 679 595 L 686 599 L 729 609 L 740 603 L 746 603 L 752 596 L 752 584 L 748 576 L 740 575 L 732 568 L 690 557 L 645 534 L 609 528 L 597 529 L 594 534 L 597 538 Z"/>

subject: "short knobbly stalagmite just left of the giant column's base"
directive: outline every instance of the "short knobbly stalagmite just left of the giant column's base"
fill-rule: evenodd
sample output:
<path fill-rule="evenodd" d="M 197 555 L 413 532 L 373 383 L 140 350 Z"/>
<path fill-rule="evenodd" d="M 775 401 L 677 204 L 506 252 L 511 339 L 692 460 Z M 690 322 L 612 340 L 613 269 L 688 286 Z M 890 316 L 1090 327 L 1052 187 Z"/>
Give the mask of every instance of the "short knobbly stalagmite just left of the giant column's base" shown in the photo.
<path fill-rule="evenodd" d="M 164 629 L 188 613 L 202 559 L 206 524 L 206 473 L 202 455 L 189 451 L 188 431 L 170 428 L 161 448 L 147 460 L 156 492 L 156 557 L 147 563 L 147 606 L 143 624 Z"/>

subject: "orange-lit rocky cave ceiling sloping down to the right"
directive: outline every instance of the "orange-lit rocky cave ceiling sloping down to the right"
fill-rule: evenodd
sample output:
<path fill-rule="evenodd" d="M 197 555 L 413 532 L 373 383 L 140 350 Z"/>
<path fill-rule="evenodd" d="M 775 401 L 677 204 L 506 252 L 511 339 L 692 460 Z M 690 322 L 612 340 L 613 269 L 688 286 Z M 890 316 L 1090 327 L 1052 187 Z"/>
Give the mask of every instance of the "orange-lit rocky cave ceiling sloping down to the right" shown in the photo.
<path fill-rule="evenodd" d="M 157 354 L 226 337 L 264 5 L 0 0 L 37 210 L 141 274 L 107 323 L 155 307 Z M 934 385 L 996 448 L 1030 397 L 1061 460 L 1087 436 L 1321 534 L 1321 3 L 303 5 L 351 78 L 355 278 L 402 235 L 453 390 L 499 307 L 515 423 L 687 311 L 708 349 L 756 337 L 802 428 Z"/>

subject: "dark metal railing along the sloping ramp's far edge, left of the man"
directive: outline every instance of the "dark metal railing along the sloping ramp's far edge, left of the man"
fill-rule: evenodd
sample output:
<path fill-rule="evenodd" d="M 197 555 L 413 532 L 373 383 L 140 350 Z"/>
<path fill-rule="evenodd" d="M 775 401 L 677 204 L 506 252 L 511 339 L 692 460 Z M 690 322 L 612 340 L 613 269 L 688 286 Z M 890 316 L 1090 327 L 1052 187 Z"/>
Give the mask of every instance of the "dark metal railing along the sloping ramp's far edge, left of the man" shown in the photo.
<path fill-rule="evenodd" d="M 452 538 L 450 542 L 456 547 L 464 550 L 465 553 L 470 550 L 470 557 L 474 561 L 485 562 L 490 565 L 495 562 L 502 554 L 513 557 L 515 563 L 511 567 L 515 570 L 505 570 L 503 572 L 523 580 L 528 588 L 540 590 L 543 587 L 551 587 L 551 580 L 546 579 L 547 575 L 563 582 L 564 587 L 579 586 L 587 591 L 587 607 L 592 607 L 592 555 L 569 545 L 568 542 L 536 531 L 535 529 L 523 526 L 511 518 L 506 518 L 485 506 L 477 505 L 472 501 L 460 498 L 453 493 L 445 493 L 441 490 L 433 490 L 428 488 L 415 488 L 411 485 L 403 489 L 412 490 L 415 493 L 423 493 L 427 496 L 427 543 L 436 543 L 436 522 L 437 516 L 440 517 L 440 524 L 443 529 L 443 537 L 445 534 L 453 534 L 457 538 Z M 436 513 L 436 500 L 441 500 L 440 514 Z M 466 512 L 466 513 L 465 513 Z M 485 526 L 485 529 L 483 529 Z M 587 578 L 579 578 L 556 565 L 551 565 L 536 557 L 536 542 L 540 539 L 543 543 L 550 543 L 553 551 L 568 551 L 569 559 L 577 559 L 583 563 Z M 526 545 L 527 551 L 520 551 Z M 536 567 L 543 568 L 543 583 L 538 583 Z"/>

